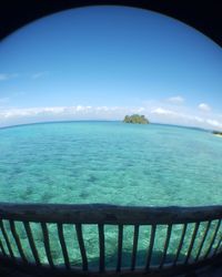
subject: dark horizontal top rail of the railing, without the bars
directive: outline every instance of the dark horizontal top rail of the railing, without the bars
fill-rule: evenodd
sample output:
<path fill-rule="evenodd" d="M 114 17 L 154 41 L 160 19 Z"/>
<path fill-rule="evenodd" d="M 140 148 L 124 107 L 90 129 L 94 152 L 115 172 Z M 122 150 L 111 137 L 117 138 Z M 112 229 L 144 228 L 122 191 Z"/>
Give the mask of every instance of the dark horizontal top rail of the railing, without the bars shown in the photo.
<path fill-rule="evenodd" d="M 138 207 L 104 204 L 0 203 L 0 218 L 62 224 L 184 224 L 222 218 L 222 205 Z"/>

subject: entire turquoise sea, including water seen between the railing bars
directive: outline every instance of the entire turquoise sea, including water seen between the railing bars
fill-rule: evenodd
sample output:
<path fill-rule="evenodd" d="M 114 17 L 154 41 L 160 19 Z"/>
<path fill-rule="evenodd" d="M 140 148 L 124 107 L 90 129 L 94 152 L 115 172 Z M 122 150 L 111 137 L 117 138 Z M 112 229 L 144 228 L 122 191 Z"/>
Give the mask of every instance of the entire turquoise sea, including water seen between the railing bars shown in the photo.
<path fill-rule="evenodd" d="M 11 203 L 105 203 L 145 206 L 200 206 L 222 204 L 222 138 L 209 131 L 161 125 L 132 125 L 121 122 L 63 122 L 0 130 L 0 202 Z M 211 223 L 200 257 L 208 250 L 218 220 Z M 9 222 L 3 220 L 12 250 L 19 257 Z M 33 261 L 24 226 L 16 223 L 26 257 Z M 43 234 L 31 223 L 41 263 L 48 263 Z M 56 265 L 63 264 L 57 225 L 48 224 Z M 191 258 L 206 229 L 198 230 Z M 194 224 L 188 225 L 179 260 L 183 260 Z M 137 266 L 144 266 L 151 226 L 141 226 Z M 175 256 L 182 225 L 174 225 L 167 260 Z M 160 261 L 167 226 L 159 226 L 151 264 Z M 72 266 L 81 266 L 77 234 L 64 225 Z M 222 225 L 213 247 L 222 236 Z M 83 237 L 90 268 L 98 268 L 97 225 L 84 225 Z M 105 266 L 117 263 L 118 228 L 104 226 Z M 0 232 L 0 240 L 7 244 Z M 122 264 L 131 263 L 133 226 L 123 228 Z"/>

